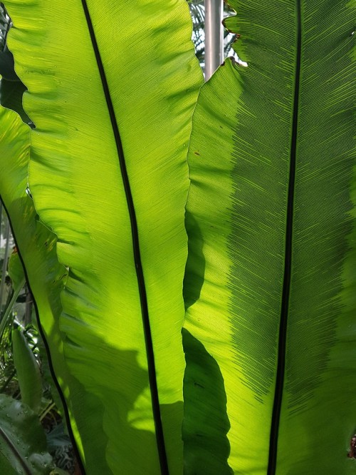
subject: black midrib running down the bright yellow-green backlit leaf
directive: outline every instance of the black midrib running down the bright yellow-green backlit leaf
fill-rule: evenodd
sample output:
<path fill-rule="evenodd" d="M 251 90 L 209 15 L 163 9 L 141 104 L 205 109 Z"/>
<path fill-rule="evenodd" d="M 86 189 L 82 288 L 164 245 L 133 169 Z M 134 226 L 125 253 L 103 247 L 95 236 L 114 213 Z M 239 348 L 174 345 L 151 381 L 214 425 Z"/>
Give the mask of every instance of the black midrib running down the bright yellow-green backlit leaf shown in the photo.
<path fill-rule="evenodd" d="M 163 427 L 162 427 L 162 420 L 161 420 L 161 413 L 159 409 L 159 397 L 158 397 L 158 388 L 157 388 L 157 380 L 156 380 L 156 368 L 155 368 L 155 354 L 153 351 L 153 343 L 152 343 L 152 334 L 150 329 L 150 317 L 148 312 L 148 303 L 147 303 L 147 293 L 146 293 L 146 286 L 145 286 L 145 279 L 142 270 L 142 260 L 141 260 L 141 253 L 140 253 L 140 243 L 138 237 L 138 229 L 137 229 L 137 219 L 135 213 L 135 206 L 132 199 L 132 193 L 130 188 L 130 181 L 127 175 L 126 163 L 125 163 L 125 155 L 122 149 L 122 143 L 120 138 L 120 132 L 117 125 L 114 106 L 112 105 L 112 100 L 110 96 L 110 90 L 108 86 L 108 81 L 106 79 L 105 70 L 103 66 L 103 61 L 101 60 L 100 51 L 98 48 L 98 43 L 95 37 L 95 31 L 93 28 L 93 23 L 90 18 L 90 13 L 88 9 L 88 5 L 86 0 L 82 0 L 83 10 L 85 13 L 85 19 L 88 24 L 88 29 L 90 33 L 90 39 L 93 44 L 93 50 L 95 53 L 95 58 L 98 64 L 98 70 L 100 72 L 100 78 L 103 85 L 103 91 L 105 93 L 105 99 L 108 106 L 108 111 L 110 114 L 110 121 L 112 126 L 112 132 L 115 137 L 115 143 L 117 148 L 117 155 L 119 158 L 120 163 L 120 170 L 122 175 L 122 182 L 125 189 L 125 196 L 127 200 L 127 208 L 130 215 L 130 223 L 131 223 L 131 233 L 132 233 L 132 245 L 133 245 L 133 254 L 135 260 L 135 269 L 137 275 L 137 282 L 138 282 L 138 289 L 140 293 L 140 304 L 141 304 L 141 312 L 142 312 L 142 324 L 145 333 L 145 344 L 146 344 L 146 352 L 147 352 L 147 365 L 148 365 L 148 377 L 150 381 L 150 390 L 151 390 L 151 399 L 152 399 L 152 413 L 155 419 L 155 429 L 156 429 L 156 440 L 157 440 L 157 449 L 159 455 L 159 464 L 161 466 L 161 473 L 162 475 L 168 475 L 168 463 L 167 463 L 167 454 L 164 445 L 164 435 L 163 435 Z"/>

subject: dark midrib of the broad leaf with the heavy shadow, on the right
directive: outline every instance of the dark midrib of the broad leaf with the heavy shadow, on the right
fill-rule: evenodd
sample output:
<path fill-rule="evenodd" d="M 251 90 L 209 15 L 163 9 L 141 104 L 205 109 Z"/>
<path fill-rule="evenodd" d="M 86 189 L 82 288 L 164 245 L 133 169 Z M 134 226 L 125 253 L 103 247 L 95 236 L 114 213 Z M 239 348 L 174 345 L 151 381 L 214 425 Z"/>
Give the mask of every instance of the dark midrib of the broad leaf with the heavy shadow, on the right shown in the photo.
<path fill-rule="evenodd" d="M 284 374 L 286 370 L 286 340 L 287 340 L 288 307 L 289 307 L 289 297 L 290 297 L 290 277 L 291 277 L 291 264 L 292 264 L 295 160 L 296 160 L 296 147 L 297 147 L 297 134 L 298 134 L 300 54 L 301 54 L 301 44 L 302 44 L 300 0 L 296 0 L 296 16 L 297 16 L 297 51 L 296 51 L 296 58 L 295 58 L 296 65 L 295 65 L 295 88 L 294 88 L 294 99 L 293 99 L 292 137 L 290 140 L 290 169 L 289 169 L 287 223 L 286 223 L 286 251 L 285 251 L 285 261 L 284 261 L 281 320 L 280 320 L 279 337 L 278 337 L 278 363 L 277 363 L 277 374 L 276 374 L 276 389 L 275 389 L 275 395 L 274 395 L 274 401 L 273 401 L 267 475 L 276 474 L 277 451 L 278 451 L 278 431 L 279 431 L 279 423 L 280 423 L 280 418 L 281 418 Z"/>

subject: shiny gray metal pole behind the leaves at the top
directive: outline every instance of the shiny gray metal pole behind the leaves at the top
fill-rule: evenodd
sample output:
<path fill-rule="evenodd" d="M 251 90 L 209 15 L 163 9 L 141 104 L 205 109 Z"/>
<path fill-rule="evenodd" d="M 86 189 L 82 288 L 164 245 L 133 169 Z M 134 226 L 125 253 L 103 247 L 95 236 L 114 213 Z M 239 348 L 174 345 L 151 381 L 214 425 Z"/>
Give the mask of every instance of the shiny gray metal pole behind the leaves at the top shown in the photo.
<path fill-rule="evenodd" d="M 205 0 L 205 81 L 224 61 L 223 1 Z"/>

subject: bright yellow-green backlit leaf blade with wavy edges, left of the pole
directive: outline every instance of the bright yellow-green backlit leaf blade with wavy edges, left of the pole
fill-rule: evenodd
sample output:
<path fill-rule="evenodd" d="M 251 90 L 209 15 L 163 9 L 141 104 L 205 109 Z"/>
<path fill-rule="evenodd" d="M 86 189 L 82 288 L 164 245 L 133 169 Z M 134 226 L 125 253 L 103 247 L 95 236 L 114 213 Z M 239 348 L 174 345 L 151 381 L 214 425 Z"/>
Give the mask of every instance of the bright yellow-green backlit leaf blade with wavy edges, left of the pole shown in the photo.
<path fill-rule="evenodd" d="M 169 473 L 181 474 L 185 158 L 201 84 L 189 9 L 184 0 L 87 3 L 133 207 L 85 2 L 78 0 L 6 2 L 16 27 L 9 45 L 36 124 L 30 188 L 41 219 L 58 235 L 59 260 L 69 267 L 60 322 L 64 354 L 73 376 L 103 404 L 110 469 L 156 475 L 165 450 Z M 140 250 L 136 262 L 133 247 L 136 257 Z M 155 372 L 142 327 L 140 265 Z M 154 419 L 156 426 L 162 421 L 165 449 Z"/>

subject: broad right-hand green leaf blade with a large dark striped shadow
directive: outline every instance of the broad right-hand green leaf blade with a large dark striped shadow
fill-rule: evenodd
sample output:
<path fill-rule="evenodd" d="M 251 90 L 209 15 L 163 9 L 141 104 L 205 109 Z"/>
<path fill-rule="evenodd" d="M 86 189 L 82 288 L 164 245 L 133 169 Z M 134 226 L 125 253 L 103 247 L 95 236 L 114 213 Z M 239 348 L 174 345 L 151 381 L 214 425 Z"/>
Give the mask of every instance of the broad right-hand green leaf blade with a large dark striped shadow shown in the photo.
<path fill-rule="evenodd" d="M 241 34 L 235 48 L 248 67 L 228 60 L 201 89 L 189 145 L 186 473 L 229 474 L 230 467 L 241 475 L 352 474 L 351 7 L 231 6 L 238 15 L 226 24 Z M 204 384 L 208 357 L 216 369 Z M 194 431 L 202 414 L 204 430 Z M 212 444 L 230 450 L 213 468 Z"/>

